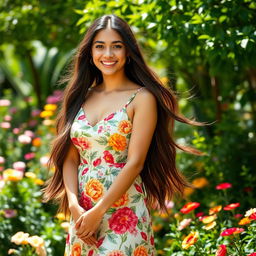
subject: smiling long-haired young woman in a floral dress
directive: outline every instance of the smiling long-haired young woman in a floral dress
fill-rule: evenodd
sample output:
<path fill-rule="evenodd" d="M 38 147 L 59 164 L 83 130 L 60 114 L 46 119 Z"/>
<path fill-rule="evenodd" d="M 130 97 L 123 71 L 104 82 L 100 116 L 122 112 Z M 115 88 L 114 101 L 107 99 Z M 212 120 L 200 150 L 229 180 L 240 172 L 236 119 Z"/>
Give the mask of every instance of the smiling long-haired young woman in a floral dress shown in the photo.
<path fill-rule="evenodd" d="M 189 186 L 175 165 L 174 93 L 146 65 L 128 24 L 104 15 L 74 57 L 44 201 L 71 214 L 65 255 L 156 255 L 151 207 Z"/>

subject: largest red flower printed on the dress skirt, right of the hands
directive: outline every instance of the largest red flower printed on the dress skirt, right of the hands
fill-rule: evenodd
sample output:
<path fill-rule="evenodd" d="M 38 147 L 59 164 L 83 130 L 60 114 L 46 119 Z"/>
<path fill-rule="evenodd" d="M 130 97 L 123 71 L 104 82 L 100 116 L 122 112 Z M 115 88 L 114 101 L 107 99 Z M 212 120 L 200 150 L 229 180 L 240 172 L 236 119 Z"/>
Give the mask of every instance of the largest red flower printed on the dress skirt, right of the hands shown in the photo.
<path fill-rule="evenodd" d="M 138 223 L 138 217 L 129 207 L 118 209 L 108 220 L 109 227 L 116 234 L 133 231 Z"/>

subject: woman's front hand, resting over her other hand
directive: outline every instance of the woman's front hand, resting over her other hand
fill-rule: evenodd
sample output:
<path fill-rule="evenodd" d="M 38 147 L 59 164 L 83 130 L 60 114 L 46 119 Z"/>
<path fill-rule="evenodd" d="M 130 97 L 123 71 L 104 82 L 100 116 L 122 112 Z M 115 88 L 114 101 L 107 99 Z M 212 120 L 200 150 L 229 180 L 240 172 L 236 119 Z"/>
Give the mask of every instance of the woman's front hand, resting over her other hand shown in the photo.
<path fill-rule="evenodd" d="M 82 240 L 93 236 L 101 223 L 102 217 L 103 213 L 97 207 L 84 212 L 75 224 L 76 235 Z"/>

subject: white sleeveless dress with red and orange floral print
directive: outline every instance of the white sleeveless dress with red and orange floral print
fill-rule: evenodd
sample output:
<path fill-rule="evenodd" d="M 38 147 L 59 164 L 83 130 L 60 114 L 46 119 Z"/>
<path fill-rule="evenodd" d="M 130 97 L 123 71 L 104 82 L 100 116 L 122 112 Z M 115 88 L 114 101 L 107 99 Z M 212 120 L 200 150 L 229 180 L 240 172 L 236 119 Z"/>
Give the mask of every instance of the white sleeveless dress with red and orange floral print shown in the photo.
<path fill-rule="evenodd" d="M 88 210 L 103 197 L 126 164 L 132 122 L 127 106 L 92 126 L 83 108 L 78 111 L 70 138 L 80 154 L 78 166 L 79 204 Z M 88 245 L 76 236 L 71 216 L 64 256 L 155 256 L 151 215 L 146 207 L 141 176 L 104 214 L 97 230 L 97 245 Z"/>

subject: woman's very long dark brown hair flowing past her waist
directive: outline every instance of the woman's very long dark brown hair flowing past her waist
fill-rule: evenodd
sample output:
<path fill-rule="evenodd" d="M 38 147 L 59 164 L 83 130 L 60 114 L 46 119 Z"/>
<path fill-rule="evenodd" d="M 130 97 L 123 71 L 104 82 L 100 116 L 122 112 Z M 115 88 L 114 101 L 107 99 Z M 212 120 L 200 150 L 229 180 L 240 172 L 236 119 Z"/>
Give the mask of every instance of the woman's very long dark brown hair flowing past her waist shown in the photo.
<path fill-rule="evenodd" d="M 84 103 L 88 89 L 94 84 L 103 82 L 101 71 L 90 63 L 91 46 L 95 35 L 100 30 L 106 29 L 108 20 L 111 28 L 122 37 L 130 54 L 130 62 L 125 63 L 126 76 L 134 83 L 146 87 L 157 99 L 158 121 L 140 175 L 147 194 L 147 206 L 154 208 L 157 205 L 159 209 L 167 211 L 166 200 L 171 200 L 176 192 L 183 195 L 184 188 L 191 186 L 177 169 L 176 148 L 195 155 L 204 154 L 174 141 L 174 120 L 196 126 L 204 126 L 208 123 L 190 120 L 179 113 L 175 93 L 166 88 L 154 71 L 146 65 L 131 28 L 114 14 L 103 15 L 88 28 L 76 49 L 67 74 L 60 79 L 60 82 L 67 83 L 67 86 L 56 117 L 57 134 L 51 145 L 47 165 L 48 169 L 53 167 L 55 171 L 42 189 L 43 202 L 53 200 L 59 204 L 59 212 L 70 214 L 63 181 L 63 163 L 71 143 L 72 122 Z"/>

